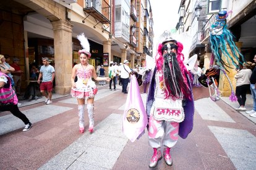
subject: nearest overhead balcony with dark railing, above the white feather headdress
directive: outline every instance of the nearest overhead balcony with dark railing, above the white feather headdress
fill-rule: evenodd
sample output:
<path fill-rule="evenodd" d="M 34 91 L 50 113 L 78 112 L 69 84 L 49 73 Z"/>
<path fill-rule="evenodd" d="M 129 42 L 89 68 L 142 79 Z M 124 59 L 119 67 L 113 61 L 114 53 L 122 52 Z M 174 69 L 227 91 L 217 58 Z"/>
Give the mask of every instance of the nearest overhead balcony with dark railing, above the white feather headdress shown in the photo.
<path fill-rule="evenodd" d="M 110 23 L 110 6 L 105 0 L 85 0 L 83 9 L 101 23 Z"/>

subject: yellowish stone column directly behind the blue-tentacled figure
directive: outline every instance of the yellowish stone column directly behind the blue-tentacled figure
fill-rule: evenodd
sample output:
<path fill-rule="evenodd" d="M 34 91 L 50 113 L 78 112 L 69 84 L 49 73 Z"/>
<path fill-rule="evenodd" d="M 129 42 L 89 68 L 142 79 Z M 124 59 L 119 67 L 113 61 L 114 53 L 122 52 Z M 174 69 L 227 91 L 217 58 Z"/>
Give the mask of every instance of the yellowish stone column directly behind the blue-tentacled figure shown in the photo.
<path fill-rule="evenodd" d="M 236 42 L 236 46 L 238 47 L 238 49 L 240 50 L 242 47 L 242 42 Z M 231 49 L 230 47 L 227 45 L 227 50 L 229 55 L 233 56 L 231 53 Z M 226 59 L 226 57 L 224 55 L 221 56 L 221 59 L 228 63 L 228 60 Z M 229 59 L 229 63 L 232 63 L 231 60 Z M 238 61 L 237 61 L 238 63 Z M 236 68 L 234 68 L 233 65 L 231 65 L 231 68 L 227 67 L 226 73 L 231 81 L 231 84 L 233 86 L 234 91 L 236 91 L 236 79 L 234 78 L 234 75 L 236 75 L 237 71 Z M 220 74 L 220 83 L 219 83 L 219 89 L 221 92 L 221 95 L 224 97 L 228 97 L 229 95 L 231 95 L 231 87 L 229 86 L 228 83 L 228 79 L 226 78 L 226 76 L 222 73 Z"/>

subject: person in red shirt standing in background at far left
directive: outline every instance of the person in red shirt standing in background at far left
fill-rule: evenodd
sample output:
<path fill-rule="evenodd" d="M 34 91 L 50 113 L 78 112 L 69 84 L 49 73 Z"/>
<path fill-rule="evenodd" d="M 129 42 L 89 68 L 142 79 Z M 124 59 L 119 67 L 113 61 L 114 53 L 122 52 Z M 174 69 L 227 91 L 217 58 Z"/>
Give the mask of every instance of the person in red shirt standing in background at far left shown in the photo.
<path fill-rule="evenodd" d="M 11 67 L 15 69 L 15 71 L 12 71 L 12 76 L 14 78 L 14 86 L 15 86 L 15 92 L 16 94 L 20 95 L 20 84 L 21 84 L 21 76 L 22 76 L 22 71 L 20 70 L 20 59 L 15 57 L 12 59 L 13 63 L 11 64 Z"/>

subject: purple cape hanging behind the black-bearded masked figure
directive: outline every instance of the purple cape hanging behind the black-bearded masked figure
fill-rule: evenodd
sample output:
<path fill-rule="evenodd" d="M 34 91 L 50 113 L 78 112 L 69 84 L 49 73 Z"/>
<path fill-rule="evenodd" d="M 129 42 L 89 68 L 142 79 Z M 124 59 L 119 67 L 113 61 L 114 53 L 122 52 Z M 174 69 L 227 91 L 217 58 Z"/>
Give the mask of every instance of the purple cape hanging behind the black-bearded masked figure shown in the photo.
<path fill-rule="evenodd" d="M 155 82 L 156 68 L 152 71 L 153 72 L 151 73 L 151 78 L 150 78 L 151 81 L 150 81 L 150 87 L 148 89 L 148 98 L 146 103 L 146 112 L 147 112 L 148 118 L 150 116 L 150 110 L 151 110 L 152 104 L 155 100 L 154 94 L 155 94 L 155 88 L 156 88 L 156 82 Z M 193 129 L 193 119 L 194 119 L 194 111 L 195 111 L 192 86 L 189 81 L 188 75 L 186 75 L 186 79 L 190 87 L 190 99 L 186 99 L 185 105 L 183 106 L 184 113 L 185 113 L 184 121 L 179 123 L 179 136 L 183 139 L 186 139 L 186 137 L 189 135 L 189 133 Z"/>

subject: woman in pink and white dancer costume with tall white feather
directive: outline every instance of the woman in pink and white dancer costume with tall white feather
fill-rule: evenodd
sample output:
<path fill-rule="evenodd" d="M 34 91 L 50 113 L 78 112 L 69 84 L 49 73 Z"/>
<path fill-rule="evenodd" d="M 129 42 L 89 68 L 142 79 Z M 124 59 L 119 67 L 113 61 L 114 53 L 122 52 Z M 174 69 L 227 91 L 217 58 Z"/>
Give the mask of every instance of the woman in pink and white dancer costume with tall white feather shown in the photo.
<path fill-rule="evenodd" d="M 83 49 L 79 50 L 79 59 L 80 63 L 75 65 L 72 69 L 71 76 L 71 95 L 72 97 L 77 98 L 78 102 L 78 115 L 79 115 L 79 131 L 84 132 L 84 112 L 85 112 L 85 103 L 87 103 L 88 118 L 89 118 L 89 129 L 90 133 L 93 132 L 94 126 L 94 97 L 97 93 L 97 88 L 95 82 L 92 80 L 92 77 L 96 81 L 109 81 L 110 78 L 107 77 L 98 77 L 96 75 L 95 68 L 88 63 L 90 59 L 90 44 L 88 39 L 85 38 L 84 34 L 79 34 L 77 36 Z M 75 82 L 75 76 L 77 76 L 77 81 Z"/>

